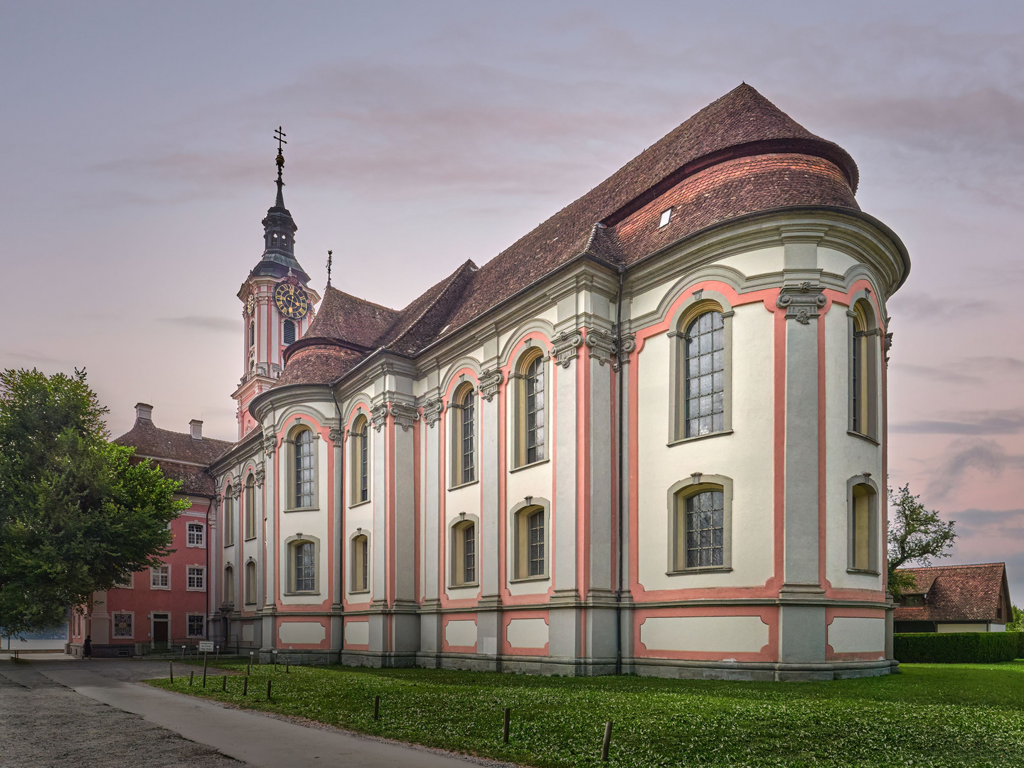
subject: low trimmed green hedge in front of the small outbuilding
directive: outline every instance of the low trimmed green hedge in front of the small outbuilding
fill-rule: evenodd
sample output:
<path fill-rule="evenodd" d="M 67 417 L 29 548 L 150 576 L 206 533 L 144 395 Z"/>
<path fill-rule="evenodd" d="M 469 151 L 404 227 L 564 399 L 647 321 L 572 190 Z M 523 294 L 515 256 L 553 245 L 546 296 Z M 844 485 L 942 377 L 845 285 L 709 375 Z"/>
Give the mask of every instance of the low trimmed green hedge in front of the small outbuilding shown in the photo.
<path fill-rule="evenodd" d="M 991 664 L 1021 655 L 1021 632 L 901 632 L 893 655 L 902 664 Z"/>

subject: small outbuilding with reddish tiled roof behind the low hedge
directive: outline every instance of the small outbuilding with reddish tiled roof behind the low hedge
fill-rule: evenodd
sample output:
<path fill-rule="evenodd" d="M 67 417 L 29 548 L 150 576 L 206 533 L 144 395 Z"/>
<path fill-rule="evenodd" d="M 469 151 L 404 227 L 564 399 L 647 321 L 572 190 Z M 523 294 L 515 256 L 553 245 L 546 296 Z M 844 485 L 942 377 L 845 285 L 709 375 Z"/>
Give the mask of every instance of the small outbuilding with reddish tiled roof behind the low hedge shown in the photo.
<path fill-rule="evenodd" d="M 896 632 L 1002 632 L 1012 618 L 1006 563 L 900 568 L 914 587 L 896 606 Z"/>

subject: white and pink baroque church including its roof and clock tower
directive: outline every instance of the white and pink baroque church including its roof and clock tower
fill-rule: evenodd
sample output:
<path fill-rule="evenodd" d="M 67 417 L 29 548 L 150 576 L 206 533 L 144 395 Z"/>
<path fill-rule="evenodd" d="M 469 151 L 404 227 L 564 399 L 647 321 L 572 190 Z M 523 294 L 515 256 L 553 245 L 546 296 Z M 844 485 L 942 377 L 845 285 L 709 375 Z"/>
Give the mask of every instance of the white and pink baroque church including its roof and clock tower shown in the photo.
<path fill-rule="evenodd" d="M 846 151 L 741 85 L 400 310 L 313 290 L 278 164 L 239 440 L 202 466 L 210 637 L 374 667 L 895 668 L 909 259 Z"/>

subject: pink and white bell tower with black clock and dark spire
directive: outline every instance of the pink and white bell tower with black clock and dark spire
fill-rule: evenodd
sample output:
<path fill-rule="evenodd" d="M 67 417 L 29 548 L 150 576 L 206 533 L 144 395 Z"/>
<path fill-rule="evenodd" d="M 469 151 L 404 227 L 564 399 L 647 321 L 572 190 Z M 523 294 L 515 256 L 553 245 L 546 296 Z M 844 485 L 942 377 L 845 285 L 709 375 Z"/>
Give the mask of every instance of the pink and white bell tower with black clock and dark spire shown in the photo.
<path fill-rule="evenodd" d="M 243 304 L 243 374 L 231 396 L 239 403 L 240 439 L 256 426 L 249 414 L 249 402 L 276 383 L 285 349 L 302 338 L 321 299 L 309 288 L 309 275 L 295 258 L 298 227 L 285 208 L 285 135 L 281 128 L 274 131 L 278 198 L 262 222 L 263 255 L 238 294 Z"/>

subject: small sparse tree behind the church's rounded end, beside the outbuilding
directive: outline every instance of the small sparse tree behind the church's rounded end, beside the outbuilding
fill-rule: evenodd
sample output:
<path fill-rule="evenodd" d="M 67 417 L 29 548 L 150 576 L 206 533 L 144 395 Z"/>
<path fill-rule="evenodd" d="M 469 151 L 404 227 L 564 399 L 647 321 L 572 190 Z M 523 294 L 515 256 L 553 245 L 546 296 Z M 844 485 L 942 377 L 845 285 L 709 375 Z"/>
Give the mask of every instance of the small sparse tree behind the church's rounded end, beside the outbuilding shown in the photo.
<path fill-rule="evenodd" d="M 889 488 L 889 592 L 896 598 L 914 588 L 913 578 L 897 568 L 907 563 L 928 567 L 933 557 L 949 557 L 956 540 L 955 521 L 946 522 L 920 499 L 909 483 Z"/>

